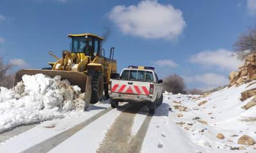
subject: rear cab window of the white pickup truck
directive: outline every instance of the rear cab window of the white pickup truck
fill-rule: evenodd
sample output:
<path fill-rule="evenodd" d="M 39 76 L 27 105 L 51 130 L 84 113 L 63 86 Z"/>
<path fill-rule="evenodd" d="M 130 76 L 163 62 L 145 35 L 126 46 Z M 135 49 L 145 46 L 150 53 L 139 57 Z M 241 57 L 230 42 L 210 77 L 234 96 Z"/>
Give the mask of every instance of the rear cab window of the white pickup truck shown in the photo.
<path fill-rule="evenodd" d="M 141 71 L 141 70 L 126 69 L 123 71 L 121 75 L 121 79 L 154 82 L 154 76 L 151 71 Z"/>

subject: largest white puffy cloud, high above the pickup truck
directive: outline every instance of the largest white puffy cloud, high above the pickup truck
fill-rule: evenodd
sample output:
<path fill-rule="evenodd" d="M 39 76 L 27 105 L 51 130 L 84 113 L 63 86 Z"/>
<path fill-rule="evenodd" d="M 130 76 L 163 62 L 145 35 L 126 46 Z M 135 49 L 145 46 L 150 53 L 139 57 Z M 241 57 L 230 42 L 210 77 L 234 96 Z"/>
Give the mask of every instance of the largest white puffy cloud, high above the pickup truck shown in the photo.
<path fill-rule="evenodd" d="M 115 6 L 109 13 L 109 19 L 115 22 L 124 34 L 142 38 L 177 38 L 186 26 L 182 11 L 171 4 L 159 4 L 157 1 L 141 1 L 137 6 Z"/>

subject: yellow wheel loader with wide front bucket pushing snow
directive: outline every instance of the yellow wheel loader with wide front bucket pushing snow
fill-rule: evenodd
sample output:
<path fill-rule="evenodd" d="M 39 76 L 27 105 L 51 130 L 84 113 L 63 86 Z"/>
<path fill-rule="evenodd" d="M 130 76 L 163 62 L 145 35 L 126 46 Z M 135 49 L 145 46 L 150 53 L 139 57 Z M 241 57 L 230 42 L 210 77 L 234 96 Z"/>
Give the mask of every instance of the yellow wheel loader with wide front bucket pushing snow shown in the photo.
<path fill-rule="evenodd" d="M 42 73 L 49 77 L 60 75 L 72 85 L 78 85 L 84 94 L 86 103 L 97 103 L 102 99 L 103 92 L 109 98 L 108 85 L 111 76 L 116 76 L 116 61 L 113 59 L 115 48 L 110 49 L 109 58 L 105 57 L 102 48 L 103 38 L 95 34 L 68 34 L 72 40 L 70 50 L 63 50 L 61 58 L 52 52 L 56 62 L 48 62 L 51 68 L 21 69 L 15 75 L 15 82 L 22 80 L 23 75 Z"/>

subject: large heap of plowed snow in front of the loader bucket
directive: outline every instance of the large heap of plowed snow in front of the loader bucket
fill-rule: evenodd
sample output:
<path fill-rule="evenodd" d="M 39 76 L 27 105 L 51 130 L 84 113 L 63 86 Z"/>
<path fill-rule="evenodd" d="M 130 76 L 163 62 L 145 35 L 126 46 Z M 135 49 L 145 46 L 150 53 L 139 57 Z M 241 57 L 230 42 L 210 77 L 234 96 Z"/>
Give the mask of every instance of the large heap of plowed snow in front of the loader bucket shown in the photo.
<path fill-rule="evenodd" d="M 84 110 L 81 89 L 60 76 L 24 75 L 13 89 L 0 87 L 0 132 Z"/>

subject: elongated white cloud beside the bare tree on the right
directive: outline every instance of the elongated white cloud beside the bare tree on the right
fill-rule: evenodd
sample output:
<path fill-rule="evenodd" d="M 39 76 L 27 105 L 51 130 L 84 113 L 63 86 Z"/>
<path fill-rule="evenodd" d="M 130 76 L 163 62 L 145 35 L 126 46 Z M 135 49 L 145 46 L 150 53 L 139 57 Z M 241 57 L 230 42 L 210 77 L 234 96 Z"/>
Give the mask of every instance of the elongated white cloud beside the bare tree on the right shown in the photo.
<path fill-rule="evenodd" d="M 204 51 L 190 57 L 191 63 L 202 64 L 202 66 L 212 68 L 217 66 L 229 71 L 236 70 L 242 62 L 236 58 L 234 52 L 225 49 Z"/>

